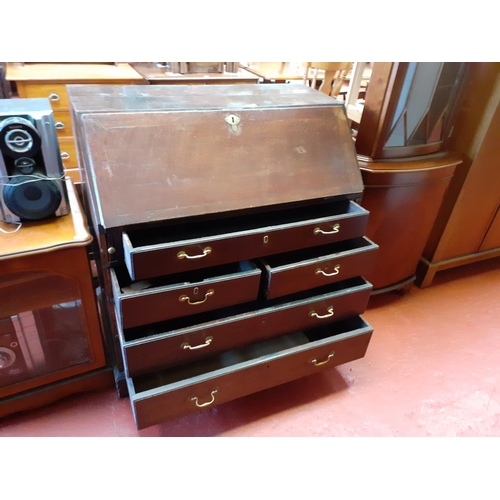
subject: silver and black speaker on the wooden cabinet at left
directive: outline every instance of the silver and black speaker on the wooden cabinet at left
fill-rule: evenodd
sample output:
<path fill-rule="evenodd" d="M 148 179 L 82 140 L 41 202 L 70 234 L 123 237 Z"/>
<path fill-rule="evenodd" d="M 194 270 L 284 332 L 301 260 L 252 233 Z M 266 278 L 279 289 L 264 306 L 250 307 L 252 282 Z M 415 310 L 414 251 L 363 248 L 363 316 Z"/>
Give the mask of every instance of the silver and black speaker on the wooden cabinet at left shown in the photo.
<path fill-rule="evenodd" d="M 0 215 L 7 222 L 69 213 L 48 99 L 0 100 Z"/>

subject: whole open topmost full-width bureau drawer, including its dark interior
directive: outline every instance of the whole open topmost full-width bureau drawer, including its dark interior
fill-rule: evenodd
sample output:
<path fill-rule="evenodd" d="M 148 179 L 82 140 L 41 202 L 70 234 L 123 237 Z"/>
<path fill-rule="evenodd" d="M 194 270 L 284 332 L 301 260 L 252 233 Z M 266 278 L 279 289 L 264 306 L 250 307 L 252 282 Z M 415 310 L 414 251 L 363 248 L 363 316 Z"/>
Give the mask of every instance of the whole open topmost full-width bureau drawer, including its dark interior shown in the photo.
<path fill-rule="evenodd" d="M 132 279 L 248 260 L 362 236 L 368 212 L 352 201 L 123 233 Z"/>

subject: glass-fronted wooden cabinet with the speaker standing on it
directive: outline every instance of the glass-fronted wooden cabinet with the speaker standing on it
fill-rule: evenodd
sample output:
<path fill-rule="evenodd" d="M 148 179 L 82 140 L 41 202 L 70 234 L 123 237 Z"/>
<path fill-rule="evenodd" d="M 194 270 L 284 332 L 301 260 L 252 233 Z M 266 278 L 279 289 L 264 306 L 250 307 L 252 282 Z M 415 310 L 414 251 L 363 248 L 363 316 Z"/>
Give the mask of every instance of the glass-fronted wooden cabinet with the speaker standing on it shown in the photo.
<path fill-rule="evenodd" d="M 87 258 L 92 237 L 66 182 L 69 215 L 0 232 L 0 417 L 112 383 Z"/>

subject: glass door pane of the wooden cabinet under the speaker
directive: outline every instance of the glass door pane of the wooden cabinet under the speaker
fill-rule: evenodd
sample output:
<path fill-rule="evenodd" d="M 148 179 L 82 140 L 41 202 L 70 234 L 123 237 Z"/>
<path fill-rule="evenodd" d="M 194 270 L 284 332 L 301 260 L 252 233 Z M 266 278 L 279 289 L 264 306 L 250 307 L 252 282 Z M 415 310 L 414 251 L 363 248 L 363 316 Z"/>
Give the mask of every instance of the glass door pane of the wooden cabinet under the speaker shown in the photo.
<path fill-rule="evenodd" d="M 76 281 L 2 276 L 0 304 L 0 387 L 92 361 Z"/>

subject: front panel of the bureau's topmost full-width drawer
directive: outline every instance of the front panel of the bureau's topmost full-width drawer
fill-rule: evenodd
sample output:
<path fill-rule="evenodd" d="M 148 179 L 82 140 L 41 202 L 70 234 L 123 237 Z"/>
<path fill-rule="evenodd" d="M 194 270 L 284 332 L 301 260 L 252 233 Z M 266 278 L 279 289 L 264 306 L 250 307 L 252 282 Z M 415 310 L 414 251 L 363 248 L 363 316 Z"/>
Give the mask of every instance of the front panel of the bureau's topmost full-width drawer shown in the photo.
<path fill-rule="evenodd" d="M 140 246 L 123 233 L 124 257 L 132 278 L 146 279 L 360 237 L 367 221 L 368 212 L 350 202 L 345 214 L 167 244 Z"/>

